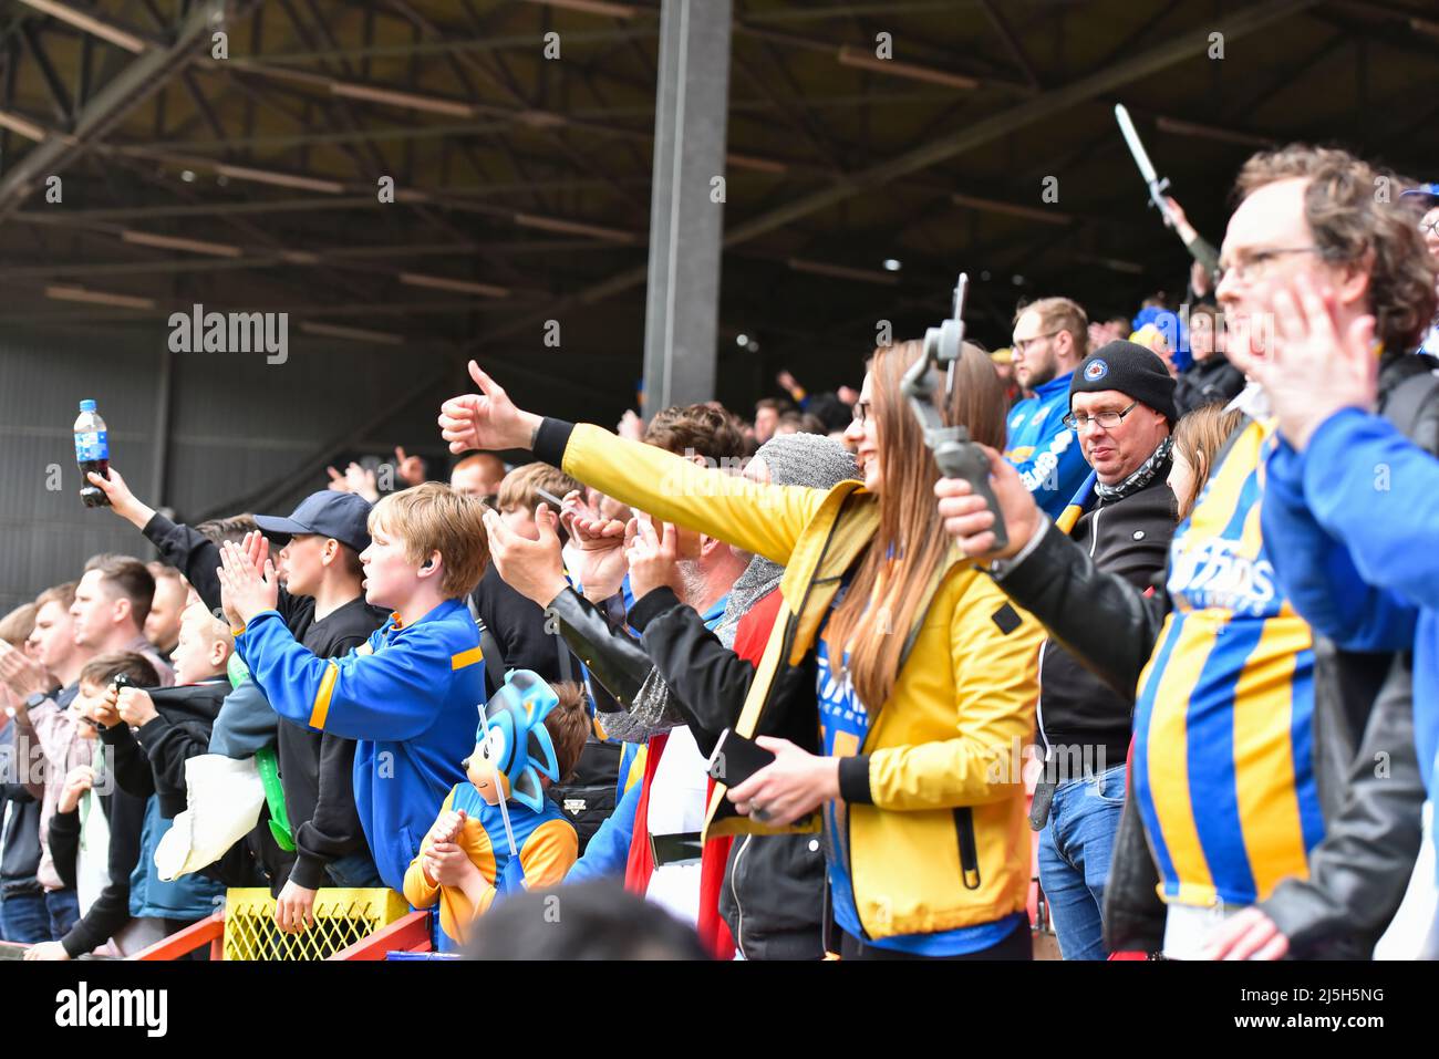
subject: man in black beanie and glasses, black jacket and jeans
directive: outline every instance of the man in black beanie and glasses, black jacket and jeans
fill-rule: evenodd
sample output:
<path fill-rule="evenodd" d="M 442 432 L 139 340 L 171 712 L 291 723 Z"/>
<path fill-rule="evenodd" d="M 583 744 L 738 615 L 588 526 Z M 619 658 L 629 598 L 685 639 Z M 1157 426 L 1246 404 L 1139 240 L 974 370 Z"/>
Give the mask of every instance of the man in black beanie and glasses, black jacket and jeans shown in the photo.
<path fill-rule="evenodd" d="M 1094 471 L 1056 527 L 1099 570 L 1141 590 L 1164 568 L 1174 534 L 1166 483 L 1174 419 L 1174 378 L 1143 345 L 1109 342 L 1071 377 L 1065 426 Z M 1104 960 L 1104 885 L 1124 807 L 1134 702 L 1053 640 L 1040 653 L 1040 688 L 1045 773 L 1030 813 L 1030 826 L 1042 830 L 1039 883 L 1065 960 Z"/>

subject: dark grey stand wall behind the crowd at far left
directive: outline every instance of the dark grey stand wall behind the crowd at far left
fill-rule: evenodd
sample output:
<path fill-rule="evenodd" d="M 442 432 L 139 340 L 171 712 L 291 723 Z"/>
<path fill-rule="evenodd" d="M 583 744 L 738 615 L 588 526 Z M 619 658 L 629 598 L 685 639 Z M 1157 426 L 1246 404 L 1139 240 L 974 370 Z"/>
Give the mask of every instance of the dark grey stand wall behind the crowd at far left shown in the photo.
<path fill-rule="evenodd" d="M 111 459 L 135 492 L 157 502 L 151 479 L 164 331 L 0 335 L 0 613 L 40 588 L 79 574 L 98 551 L 153 558 L 144 538 L 79 498 L 71 427 L 82 397 L 99 403 L 111 432 Z M 183 518 L 229 502 L 301 468 L 322 443 L 373 423 L 429 370 L 403 347 L 317 344 L 292 332 L 286 364 L 263 354 L 176 354 L 167 488 L 160 502 Z M 456 380 L 459 386 L 463 380 Z M 442 394 L 414 403 L 358 452 L 389 456 L 399 443 L 445 463 L 435 416 Z M 46 486 L 59 465 L 60 491 Z M 322 468 L 273 506 L 289 508 L 322 489 Z"/>

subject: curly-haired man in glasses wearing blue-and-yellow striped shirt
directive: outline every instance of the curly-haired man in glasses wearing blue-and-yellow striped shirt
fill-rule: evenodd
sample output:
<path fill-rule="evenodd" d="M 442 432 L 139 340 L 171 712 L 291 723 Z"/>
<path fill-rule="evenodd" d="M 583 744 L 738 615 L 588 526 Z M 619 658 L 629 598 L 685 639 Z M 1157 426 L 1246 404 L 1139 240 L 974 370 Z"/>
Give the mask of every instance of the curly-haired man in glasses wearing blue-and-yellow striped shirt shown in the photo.
<path fill-rule="evenodd" d="M 1374 334 L 1386 351 L 1379 361 L 1381 413 L 1390 412 L 1386 383 L 1423 370 L 1406 351 L 1433 315 L 1433 268 L 1419 250 L 1413 219 L 1374 194 L 1379 177 L 1350 154 L 1302 145 L 1245 164 L 1217 289 L 1235 367 L 1252 374 L 1272 357 L 1276 298 L 1309 282 L 1341 309 L 1341 334 L 1361 315 L 1377 321 Z M 1379 813 L 1374 800 L 1363 800 L 1373 794 L 1356 793 L 1347 768 L 1383 671 L 1373 679 L 1373 663 L 1366 673 L 1333 645 L 1320 645 L 1317 660 L 1314 633 L 1275 573 L 1288 554 L 1276 554 L 1261 522 L 1276 419 L 1256 384 L 1235 406 L 1246 420 L 1176 531 L 1166 581 L 1153 596 L 1098 570 L 1053 532 L 1002 460 L 991 458 L 1009 530 L 1002 553 L 993 551 L 993 515 L 968 483 L 941 479 L 935 486 L 945 528 L 966 554 L 1009 558 L 996 564 L 1004 590 L 1112 688 L 1137 694 L 1132 813 L 1125 809 L 1107 888 L 1105 937 L 1117 948 L 1156 947 L 1160 924 L 1140 902 L 1157 869 L 1167 954 L 1282 955 L 1312 914 L 1304 914 L 1302 927 L 1294 919 L 1295 934 L 1271 932 L 1258 944 L 1239 921 L 1243 945 L 1233 944 L 1225 922 L 1258 902 L 1275 909 L 1281 883 L 1304 885 L 1327 872 L 1325 860 L 1311 860 L 1311 853 L 1330 824 Z M 1144 837 L 1131 842 L 1131 822 L 1141 820 Z M 1407 881 L 1403 862 L 1413 862 L 1413 845 L 1389 839 L 1403 824 L 1363 842 L 1366 827 L 1374 830 L 1356 823 L 1351 845 L 1366 849 L 1367 866 L 1345 866 L 1340 911 L 1324 938 L 1337 932 L 1358 953 L 1383 931 Z M 1309 942 L 1320 941 L 1304 940 L 1309 953 Z"/>

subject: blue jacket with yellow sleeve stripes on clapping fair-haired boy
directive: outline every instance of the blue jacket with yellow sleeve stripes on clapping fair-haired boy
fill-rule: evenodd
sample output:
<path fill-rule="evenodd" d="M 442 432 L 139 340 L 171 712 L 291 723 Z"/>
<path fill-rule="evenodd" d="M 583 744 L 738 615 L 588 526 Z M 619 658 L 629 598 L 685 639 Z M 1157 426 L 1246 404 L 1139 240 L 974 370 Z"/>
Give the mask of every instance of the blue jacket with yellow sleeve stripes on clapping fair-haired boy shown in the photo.
<path fill-rule="evenodd" d="M 341 659 L 295 642 L 276 610 L 235 637 L 275 712 L 355 744 L 355 809 L 380 878 L 404 889 L 440 803 L 465 781 L 475 748 L 485 662 L 479 630 L 459 600 L 413 624 L 399 616 Z"/>

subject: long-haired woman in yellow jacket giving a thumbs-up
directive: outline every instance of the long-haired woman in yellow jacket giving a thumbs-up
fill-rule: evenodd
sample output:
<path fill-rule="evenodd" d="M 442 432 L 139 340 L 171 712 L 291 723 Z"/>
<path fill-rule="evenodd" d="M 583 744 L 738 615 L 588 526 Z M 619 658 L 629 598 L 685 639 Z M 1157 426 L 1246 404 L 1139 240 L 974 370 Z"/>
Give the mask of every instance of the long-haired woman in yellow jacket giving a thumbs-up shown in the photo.
<path fill-rule="evenodd" d="M 521 412 L 473 363 L 484 393 L 450 399 L 439 422 L 452 452 L 532 449 L 655 519 L 781 563 L 784 603 L 734 725 L 776 760 L 717 790 L 707 835 L 823 824 L 843 957 L 1027 958 L 1020 764 L 1043 633 L 943 532 L 938 469 L 899 390 L 920 354 L 875 351 L 849 430 L 865 481 L 829 491 Z M 941 414 L 999 446 L 1004 413 L 993 365 L 966 347 Z"/>

